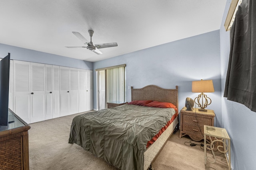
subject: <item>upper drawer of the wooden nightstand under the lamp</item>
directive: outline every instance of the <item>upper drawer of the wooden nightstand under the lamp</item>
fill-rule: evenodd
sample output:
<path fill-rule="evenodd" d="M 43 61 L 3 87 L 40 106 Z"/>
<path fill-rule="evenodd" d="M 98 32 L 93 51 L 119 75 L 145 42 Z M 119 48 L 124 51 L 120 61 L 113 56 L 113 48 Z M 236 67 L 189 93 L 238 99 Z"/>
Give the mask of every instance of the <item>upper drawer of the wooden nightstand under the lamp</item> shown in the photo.
<path fill-rule="evenodd" d="M 198 126 L 211 125 L 211 121 L 212 121 L 212 119 L 190 116 L 190 115 L 183 115 L 182 120 L 183 120 L 183 123 L 188 123 L 191 125 L 198 125 Z"/>

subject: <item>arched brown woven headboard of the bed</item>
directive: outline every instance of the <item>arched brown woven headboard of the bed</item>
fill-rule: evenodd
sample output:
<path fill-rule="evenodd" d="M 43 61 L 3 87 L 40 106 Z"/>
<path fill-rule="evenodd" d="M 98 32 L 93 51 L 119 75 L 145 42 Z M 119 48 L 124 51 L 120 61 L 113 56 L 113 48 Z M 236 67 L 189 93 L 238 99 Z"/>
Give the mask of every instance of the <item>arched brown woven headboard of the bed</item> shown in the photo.
<path fill-rule="evenodd" d="M 164 89 L 155 85 L 148 85 L 143 88 L 132 88 L 133 100 L 153 100 L 158 102 L 169 102 L 178 109 L 178 86 L 175 89 Z"/>

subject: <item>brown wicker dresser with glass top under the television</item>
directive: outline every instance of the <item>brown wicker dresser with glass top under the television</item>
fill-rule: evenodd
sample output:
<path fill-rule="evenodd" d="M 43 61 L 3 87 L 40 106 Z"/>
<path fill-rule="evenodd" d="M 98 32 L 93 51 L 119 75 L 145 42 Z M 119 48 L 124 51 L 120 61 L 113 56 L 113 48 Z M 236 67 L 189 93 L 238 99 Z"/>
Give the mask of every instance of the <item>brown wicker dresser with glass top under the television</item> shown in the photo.
<path fill-rule="evenodd" d="M 0 126 L 0 169 L 29 170 L 28 130 L 30 125 L 15 113 L 14 122 Z"/>

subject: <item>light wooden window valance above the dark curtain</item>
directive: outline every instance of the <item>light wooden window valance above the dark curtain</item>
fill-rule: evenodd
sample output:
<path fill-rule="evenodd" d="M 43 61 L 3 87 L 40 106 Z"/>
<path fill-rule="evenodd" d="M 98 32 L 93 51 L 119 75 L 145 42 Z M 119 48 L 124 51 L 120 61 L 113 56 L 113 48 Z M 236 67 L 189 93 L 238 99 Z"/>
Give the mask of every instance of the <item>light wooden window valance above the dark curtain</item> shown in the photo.
<path fill-rule="evenodd" d="M 235 16 L 236 16 L 236 11 L 237 11 L 238 5 L 240 5 L 241 2 L 242 2 L 242 0 L 232 0 L 229 10 L 228 10 L 228 15 L 227 15 L 226 21 L 224 23 L 224 27 L 225 27 L 226 31 L 230 30 L 230 28 L 234 22 Z"/>

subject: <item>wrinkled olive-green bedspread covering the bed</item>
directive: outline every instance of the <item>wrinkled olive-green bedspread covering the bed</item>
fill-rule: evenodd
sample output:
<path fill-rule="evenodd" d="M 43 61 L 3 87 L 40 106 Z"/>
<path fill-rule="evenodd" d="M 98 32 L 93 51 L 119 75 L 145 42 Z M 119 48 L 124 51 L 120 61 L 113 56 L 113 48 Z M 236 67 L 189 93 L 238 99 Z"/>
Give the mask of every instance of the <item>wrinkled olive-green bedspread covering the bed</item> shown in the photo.
<path fill-rule="evenodd" d="M 175 114 L 172 108 L 124 104 L 74 117 L 76 143 L 122 170 L 143 170 L 146 145 Z"/>

